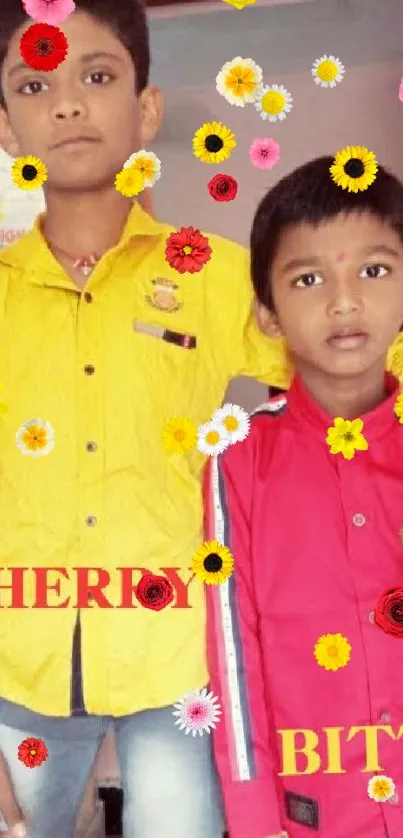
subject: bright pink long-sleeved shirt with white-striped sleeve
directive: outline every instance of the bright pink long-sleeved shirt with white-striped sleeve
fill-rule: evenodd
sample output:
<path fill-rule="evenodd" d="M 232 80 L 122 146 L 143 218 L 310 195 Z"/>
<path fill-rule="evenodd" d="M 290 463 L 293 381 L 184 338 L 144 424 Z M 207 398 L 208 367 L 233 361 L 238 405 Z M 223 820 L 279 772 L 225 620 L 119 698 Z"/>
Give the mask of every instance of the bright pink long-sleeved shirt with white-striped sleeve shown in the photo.
<path fill-rule="evenodd" d="M 206 475 L 206 537 L 226 544 L 235 570 L 209 585 L 211 689 L 223 716 L 214 733 L 231 838 L 403 836 L 403 638 L 373 620 L 379 597 L 403 584 L 403 425 L 398 382 L 362 416 L 368 451 L 350 461 L 326 443 L 328 416 L 296 378 L 287 397 L 251 420 L 244 442 L 212 459 Z M 313 654 L 319 637 L 351 645 L 343 668 Z M 364 772 L 364 733 L 379 733 L 378 772 Z M 345 773 L 326 774 L 324 727 L 341 727 Z M 319 735 L 317 773 L 279 776 L 278 730 Z M 403 730 L 403 728 L 402 728 Z M 299 743 L 298 743 L 299 744 Z M 297 758 L 299 771 L 306 759 Z M 374 773 L 391 777 L 399 800 L 376 803 Z"/>

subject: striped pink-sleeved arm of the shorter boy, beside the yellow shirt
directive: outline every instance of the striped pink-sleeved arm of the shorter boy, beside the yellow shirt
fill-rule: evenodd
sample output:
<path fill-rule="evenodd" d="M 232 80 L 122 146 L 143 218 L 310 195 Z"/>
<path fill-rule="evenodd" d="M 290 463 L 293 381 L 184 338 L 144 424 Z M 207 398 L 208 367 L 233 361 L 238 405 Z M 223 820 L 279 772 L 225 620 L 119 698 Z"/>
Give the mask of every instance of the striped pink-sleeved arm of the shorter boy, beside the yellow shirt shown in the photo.
<path fill-rule="evenodd" d="M 206 585 L 210 685 L 222 709 L 214 748 L 231 838 L 281 834 L 276 772 L 259 644 L 250 555 L 250 438 L 212 459 L 205 477 L 205 537 L 225 544 L 232 576 Z"/>

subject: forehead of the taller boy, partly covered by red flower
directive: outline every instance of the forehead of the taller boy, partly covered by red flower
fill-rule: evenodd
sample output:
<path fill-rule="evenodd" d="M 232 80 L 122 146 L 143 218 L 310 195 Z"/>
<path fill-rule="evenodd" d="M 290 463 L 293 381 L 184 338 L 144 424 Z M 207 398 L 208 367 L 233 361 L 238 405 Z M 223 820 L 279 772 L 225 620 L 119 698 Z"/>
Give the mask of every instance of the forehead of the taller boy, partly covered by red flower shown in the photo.
<path fill-rule="evenodd" d="M 6 73 L 14 66 L 22 63 L 20 54 L 21 36 L 34 23 L 35 21 L 28 20 L 28 23 L 24 23 L 11 38 L 5 60 Z M 107 53 L 115 60 L 130 62 L 129 53 L 112 29 L 87 12 L 76 9 L 67 20 L 58 24 L 58 28 L 64 32 L 69 45 L 65 62 L 84 61 L 93 53 Z M 60 66 L 63 66 L 63 64 Z"/>

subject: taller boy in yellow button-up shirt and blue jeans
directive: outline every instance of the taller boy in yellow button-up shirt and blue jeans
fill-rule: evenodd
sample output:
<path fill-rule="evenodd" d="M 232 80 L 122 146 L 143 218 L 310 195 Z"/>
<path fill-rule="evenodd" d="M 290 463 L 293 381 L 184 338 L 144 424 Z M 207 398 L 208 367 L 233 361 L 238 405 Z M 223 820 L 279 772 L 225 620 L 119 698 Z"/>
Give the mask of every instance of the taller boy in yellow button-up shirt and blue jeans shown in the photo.
<path fill-rule="evenodd" d="M 48 72 L 21 60 L 32 24 L 2 0 L 0 142 L 48 178 L 46 213 L 0 253 L 0 751 L 30 838 L 70 838 L 109 725 L 125 838 L 220 838 L 210 737 L 172 706 L 208 683 L 191 429 L 237 375 L 286 387 L 284 347 L 254 324 L 242 247 L 207 235 L 182 273 L 175 230 L 115 188 L 162 112 L 140 0 L 78 0 Z M 157 612 L 134 595 L 147 573 L 175 594 Z"/>

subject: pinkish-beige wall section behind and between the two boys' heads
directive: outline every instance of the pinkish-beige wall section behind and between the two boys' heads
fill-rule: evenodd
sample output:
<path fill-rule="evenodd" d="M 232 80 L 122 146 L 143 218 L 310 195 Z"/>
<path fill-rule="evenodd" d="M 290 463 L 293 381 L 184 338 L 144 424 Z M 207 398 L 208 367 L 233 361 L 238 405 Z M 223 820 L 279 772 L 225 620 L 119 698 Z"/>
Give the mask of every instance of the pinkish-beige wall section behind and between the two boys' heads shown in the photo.
<path fill-rule="evenodd" d="M 319 47 L 316 57 L 322 54 Z M 314 59 L 307 56 L 304 75 L 281 74 L 280 83 L 294 98 L 283 122 L 263 121 L 253 105 L 231 107 L 214 83 L 209 88 L 184 87 L 166 93 L 165 124 L 153 146 L 163 165 L 162 177 L 153 189 L 161 219 L 199 226 L 246 244 L 254 209 L 266 189 L 295 166 L 345 145 L 367 145 L 380 162 L 403 177 L 403 104 L 397 95 L 402 60 L 347 66 L 341 84 L 323 89 L 310 75 Z M 228 161 L 207 165 L 194 157 L 192 136 L 203 122 L 214 119 L 235 132 L 238 145 Z M 256 169 L 249 161 L 248 148 L 256 136 L 270 136 L 280 144 L 280 162 L 270 172 Z M 206 184 L 217 171 L 238 180 L 237 198 L 229 204 L 217 203 L 208 194 Z"/>

